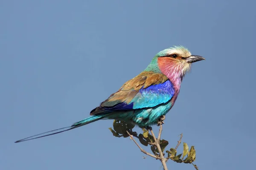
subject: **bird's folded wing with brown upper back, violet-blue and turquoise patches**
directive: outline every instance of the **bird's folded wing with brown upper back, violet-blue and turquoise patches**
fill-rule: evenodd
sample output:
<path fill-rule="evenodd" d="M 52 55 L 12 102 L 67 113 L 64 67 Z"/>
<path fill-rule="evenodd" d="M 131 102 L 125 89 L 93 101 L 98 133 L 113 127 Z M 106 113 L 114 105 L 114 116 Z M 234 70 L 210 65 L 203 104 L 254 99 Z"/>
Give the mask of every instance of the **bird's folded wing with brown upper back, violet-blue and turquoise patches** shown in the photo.
<path fill-rule="evenodd" d="M 172 82 L 164 75 L 144 71 L 125 82 L 114 94 L 90 114 L 103 114 L 114 111 L 151 108 L 168 102 L 174 95 Z"/>

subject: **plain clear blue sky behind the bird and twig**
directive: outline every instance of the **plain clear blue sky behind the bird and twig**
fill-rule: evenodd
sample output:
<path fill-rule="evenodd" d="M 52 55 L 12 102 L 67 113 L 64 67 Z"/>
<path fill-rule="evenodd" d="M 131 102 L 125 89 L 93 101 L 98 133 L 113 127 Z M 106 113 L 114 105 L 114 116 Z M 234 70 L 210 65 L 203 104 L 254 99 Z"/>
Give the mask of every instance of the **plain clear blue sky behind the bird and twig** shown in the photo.
<path fill-rule="evenodd" d="M 253 0 L 1 0 L 0 169 L 160 170 L 131 140 L 112 136 L 112 120 L 14 141 L 89 116 L 172 45 L 206 60 L 193 64 L 167 114 L 168 147 L 183 133 L 201 170 L 254 169 L 255 6 Z"/>

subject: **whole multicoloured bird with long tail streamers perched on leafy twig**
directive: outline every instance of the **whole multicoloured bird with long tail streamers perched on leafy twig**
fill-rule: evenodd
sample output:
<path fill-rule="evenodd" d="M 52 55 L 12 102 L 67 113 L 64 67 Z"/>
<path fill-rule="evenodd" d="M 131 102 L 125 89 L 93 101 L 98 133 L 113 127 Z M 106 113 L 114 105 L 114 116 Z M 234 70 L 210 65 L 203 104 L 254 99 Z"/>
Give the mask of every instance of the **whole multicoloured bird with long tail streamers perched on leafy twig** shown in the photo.
<path fill-rule="evenodd" d="M 175 104 L 181 82 L 192 63 L 204 59 L 192 55 L 181 45 L 166 48 L 154 56 L 144 71 L 90 111 L 89 117 L 71 126 L 29 136 L 15 143 L 72 130 L 101 119 L 118 119 L 139 127 L 156 125 Z"/>

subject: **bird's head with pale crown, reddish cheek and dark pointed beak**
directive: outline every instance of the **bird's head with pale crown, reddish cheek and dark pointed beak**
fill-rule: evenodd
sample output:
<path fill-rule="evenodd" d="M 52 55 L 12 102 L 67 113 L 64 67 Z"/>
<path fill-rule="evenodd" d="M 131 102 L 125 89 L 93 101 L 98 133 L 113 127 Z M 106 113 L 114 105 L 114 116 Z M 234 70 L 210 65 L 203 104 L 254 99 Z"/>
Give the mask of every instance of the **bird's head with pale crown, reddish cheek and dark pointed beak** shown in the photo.
<path fill-rule="evenodd" d="M 191 64 L 200 60 L 204 60 L 204 57 L 192 55 L 183 46 L 174 46 L 157 53 L 146 71 L 160 71 L 169 79 L 180 83 Z"/>

